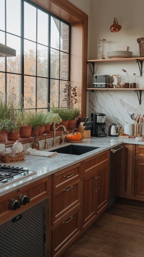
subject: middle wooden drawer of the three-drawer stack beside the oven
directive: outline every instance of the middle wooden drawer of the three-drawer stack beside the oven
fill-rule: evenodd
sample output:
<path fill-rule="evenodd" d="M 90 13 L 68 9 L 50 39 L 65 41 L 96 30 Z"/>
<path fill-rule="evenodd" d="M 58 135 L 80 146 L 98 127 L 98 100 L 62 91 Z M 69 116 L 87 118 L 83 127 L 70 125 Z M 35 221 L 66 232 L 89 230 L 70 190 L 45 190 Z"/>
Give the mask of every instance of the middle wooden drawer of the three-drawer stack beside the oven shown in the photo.
<path fill-rule="evenodd" d="M 81 179 L 52 194 L 52 225 L 81 204 Z"/>

